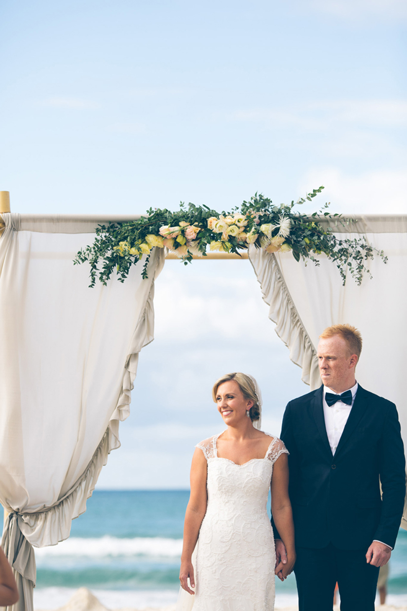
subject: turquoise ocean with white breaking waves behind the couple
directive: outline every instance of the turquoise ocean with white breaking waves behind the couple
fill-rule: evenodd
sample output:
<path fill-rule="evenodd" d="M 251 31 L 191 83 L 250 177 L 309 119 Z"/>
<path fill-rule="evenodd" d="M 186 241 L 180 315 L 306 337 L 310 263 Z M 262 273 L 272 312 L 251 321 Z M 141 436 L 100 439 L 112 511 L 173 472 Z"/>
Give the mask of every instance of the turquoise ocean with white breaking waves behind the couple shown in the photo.
<path fill-rule="evenodd" d="M 177 600 L 188 491 L 95 491 L 71 536 L 35 550 L 35 609 L 56 609 L 82 586 L 109 608 L 160 607 Z M 270 500 L 269 500 L 270 502 Z M 391 558 L 389 604 L 407 604 L 407 531 Z M 276 580 L 276 603 L 296 604 L 295 578 Z"/>

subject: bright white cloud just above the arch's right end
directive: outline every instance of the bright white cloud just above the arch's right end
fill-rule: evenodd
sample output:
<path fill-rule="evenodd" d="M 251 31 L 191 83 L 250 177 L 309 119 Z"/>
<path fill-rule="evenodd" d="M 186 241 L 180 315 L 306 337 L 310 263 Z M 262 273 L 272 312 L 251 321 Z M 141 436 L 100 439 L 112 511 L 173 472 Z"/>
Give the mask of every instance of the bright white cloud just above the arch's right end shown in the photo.
<path fill-rule="evenodd" d="M 309 170 L 301 181 L 301 192 L 309 185 L 325 186 L 323 196 L 333 212 L 355 214 L 406 214 L 407 172 L 379 169 L 349 175 L 337 167 Z"/>

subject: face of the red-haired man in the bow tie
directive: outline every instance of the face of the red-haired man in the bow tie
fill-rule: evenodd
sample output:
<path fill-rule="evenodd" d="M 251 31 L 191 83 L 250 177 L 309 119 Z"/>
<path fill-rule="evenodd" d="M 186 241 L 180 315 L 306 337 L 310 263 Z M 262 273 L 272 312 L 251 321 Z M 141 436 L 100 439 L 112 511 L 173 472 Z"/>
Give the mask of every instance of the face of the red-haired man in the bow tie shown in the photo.
<path fill-rule="evenodd" d="M 348 344 L 341 335 L 320 339 L 318 365 L 324 386 L 338 393 L 354 386 L 354 367 L 357 360 L 356 354 L 350 354 Z"/>

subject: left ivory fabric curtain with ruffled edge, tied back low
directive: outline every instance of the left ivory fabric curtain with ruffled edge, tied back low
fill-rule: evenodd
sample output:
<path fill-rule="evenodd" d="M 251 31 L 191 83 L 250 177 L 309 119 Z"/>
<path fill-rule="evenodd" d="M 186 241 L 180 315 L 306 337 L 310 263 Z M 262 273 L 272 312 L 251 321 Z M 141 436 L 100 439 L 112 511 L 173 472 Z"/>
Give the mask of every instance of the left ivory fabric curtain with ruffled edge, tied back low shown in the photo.
<path fill-rule="evenodd" d="M 109 219 L 4 214 L 0 237 L 0 502 L 9 513 L 2 546 L 20 602 L 32 610 L 32 546 L 69 536 L 86 510 L 129 414 L 138 353 L 153 339 L 154 280 L 164 252 L 88 288 L 76 252 Z M 48 233 L 45 233 L 48 232 Z"/>

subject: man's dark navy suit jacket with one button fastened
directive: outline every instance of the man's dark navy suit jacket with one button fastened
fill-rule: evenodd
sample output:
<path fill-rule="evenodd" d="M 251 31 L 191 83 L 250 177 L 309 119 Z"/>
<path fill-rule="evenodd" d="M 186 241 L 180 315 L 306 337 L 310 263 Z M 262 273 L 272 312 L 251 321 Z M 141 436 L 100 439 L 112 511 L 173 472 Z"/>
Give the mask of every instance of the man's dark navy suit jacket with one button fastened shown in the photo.
<path fill-rule="evenodd" d="M 296 545 L 367 550 L 376 539 L 394 547 L 405 500 L 395 404 L 359 385 L 332 456 L 322 399 L 321 386 L 290 401 L 282 423 Z"/>

